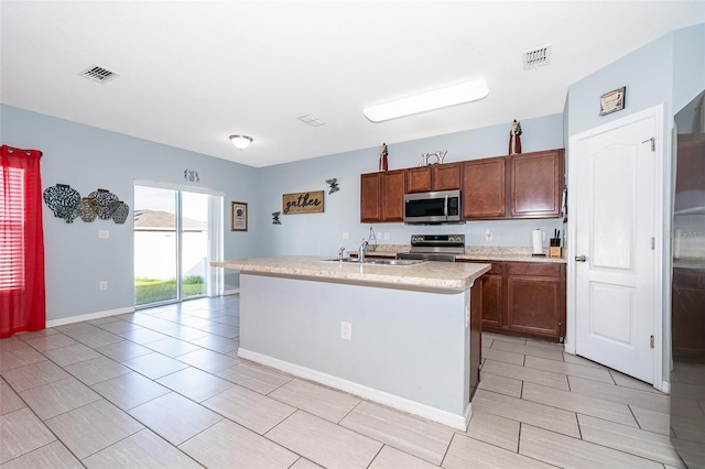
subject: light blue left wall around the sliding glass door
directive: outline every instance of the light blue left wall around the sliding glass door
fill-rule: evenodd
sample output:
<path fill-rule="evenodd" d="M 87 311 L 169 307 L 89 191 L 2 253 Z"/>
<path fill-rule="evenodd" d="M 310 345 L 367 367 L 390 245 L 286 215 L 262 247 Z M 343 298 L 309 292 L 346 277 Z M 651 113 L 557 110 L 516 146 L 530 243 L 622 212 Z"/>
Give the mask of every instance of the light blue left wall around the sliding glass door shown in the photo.
<path fill-rule="evenodd" d="M 68 225 L 45 207 L 48 320 L 133 307 L 133 181 L 221 192 L 226 214 L 229 200 L 248 200 L 248 208 L 258 210 L 253 197 L 258 172 L 253 167 L 13 107 L 2 106 L 0 112 L 3 144 L 43 152 L 43 187 L 68 184 L 83 196 L 107 188 L 130 206 L 124 225 L 100 219 L 94 222 L 76 219 Z M 200 181 L 184 181 L 186 168 L 198 171 Z M 229 221 L 225 225 L 227 259 L 258 254 L 254 230 L 231 232 Z M 109 230 L 109 238 L 98 239 L 98 230 Z M 108 281 L 107 291 L 99 291 L 101 280 Z"/>

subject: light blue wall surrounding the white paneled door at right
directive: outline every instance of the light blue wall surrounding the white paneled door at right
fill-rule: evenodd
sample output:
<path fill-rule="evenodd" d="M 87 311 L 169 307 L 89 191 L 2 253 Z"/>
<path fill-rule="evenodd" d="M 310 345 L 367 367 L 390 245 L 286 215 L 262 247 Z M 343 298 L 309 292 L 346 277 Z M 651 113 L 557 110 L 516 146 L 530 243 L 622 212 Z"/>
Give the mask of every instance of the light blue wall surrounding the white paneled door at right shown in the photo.
<path fill-rule="evenodd" d="M 625 110 L 599 116 L 599 96 L 627 87 Z M 567 135 L 663 105 L 663 380 L 669 381 L 671 337 L 671 226 L 673 192 L 673 119 L 705 89 L 705 24 L 673 31 L 577 81 L 568 89 Z M 570 140 L 566 140 L 566 145 Z M 571 164 L 571 149 L 567 162 Z M 570 210 L 568 210 L 570 211 Z M 568 252 L 568 257 L 572 255 Z M 570 280 L 568 280 L 570 281 Z"/>

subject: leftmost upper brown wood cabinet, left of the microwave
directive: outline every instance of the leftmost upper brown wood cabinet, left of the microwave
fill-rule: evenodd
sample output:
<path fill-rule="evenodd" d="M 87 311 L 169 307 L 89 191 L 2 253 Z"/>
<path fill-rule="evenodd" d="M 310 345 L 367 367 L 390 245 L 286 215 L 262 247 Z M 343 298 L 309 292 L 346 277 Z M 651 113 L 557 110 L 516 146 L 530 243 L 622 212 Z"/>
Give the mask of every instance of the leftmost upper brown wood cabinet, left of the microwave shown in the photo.
<path fill-rule="evenodd" d="M 360 175 L 360 221 L 404 220 L 404 171 Z"/>

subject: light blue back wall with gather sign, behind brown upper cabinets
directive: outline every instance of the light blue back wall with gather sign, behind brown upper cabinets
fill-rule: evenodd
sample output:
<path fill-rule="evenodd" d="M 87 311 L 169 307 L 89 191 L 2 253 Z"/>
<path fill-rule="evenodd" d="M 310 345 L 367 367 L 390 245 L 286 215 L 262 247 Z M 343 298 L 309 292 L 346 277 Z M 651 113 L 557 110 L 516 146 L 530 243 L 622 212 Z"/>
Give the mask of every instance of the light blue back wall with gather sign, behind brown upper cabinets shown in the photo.
<path fill-rule="evenodd" d="M 421 154 L 447 150 L 444 163 L 507 154 L 511 123 L 467 130 L 429 139 L 389 144 L 389 168 L 417 166 Z M 521 121 L 524 153 L 563 148 L 562 114 Z M 381 142 L 380 142 L 381 145 Z M 390 240 L 379 244 L 409 244 L 412 233 L 465 233 L 471 246 L 531 246 L 531 230 L 553 232 L 562 229 L 563 219 L 468 221 L 465 225 L 437 227 L 403 223 L 360 223 L 360 174 L 377 171 L 380 148 L 357 150 L 302 162 L 261 168 L 258 200 L 262 212 L 258 218 L 260 249 L 264 255 L 316 254 L 337 255 L 340 247 L 357 250 L 370 227 L 375 232 L 389 232 Z M 271 212 L 282 210 L 282 194 L 326 188 L 325 181 L 337 177 L 340 190 L 325 193 L 323 214 L 282 215 L 282 225 L 272 225 Z M 492 241 L 485 241 L 491 229 Z M 343 239 L 348 232 L 350 238 Z M 547 246 L 547 244 L 546 244 Z"/>

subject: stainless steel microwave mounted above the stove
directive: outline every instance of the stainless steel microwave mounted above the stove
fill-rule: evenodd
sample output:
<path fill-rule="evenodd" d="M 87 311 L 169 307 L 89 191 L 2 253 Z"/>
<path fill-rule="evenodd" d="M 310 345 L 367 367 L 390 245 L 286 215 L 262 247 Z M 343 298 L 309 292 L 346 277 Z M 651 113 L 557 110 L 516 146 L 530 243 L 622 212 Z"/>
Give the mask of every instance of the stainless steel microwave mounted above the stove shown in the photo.
<path fill-rule="evenodd" d="M 463 223 L 460 190 L 404 194 L 404 223 Z"/>

